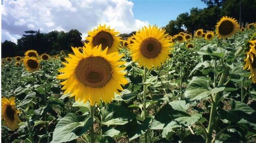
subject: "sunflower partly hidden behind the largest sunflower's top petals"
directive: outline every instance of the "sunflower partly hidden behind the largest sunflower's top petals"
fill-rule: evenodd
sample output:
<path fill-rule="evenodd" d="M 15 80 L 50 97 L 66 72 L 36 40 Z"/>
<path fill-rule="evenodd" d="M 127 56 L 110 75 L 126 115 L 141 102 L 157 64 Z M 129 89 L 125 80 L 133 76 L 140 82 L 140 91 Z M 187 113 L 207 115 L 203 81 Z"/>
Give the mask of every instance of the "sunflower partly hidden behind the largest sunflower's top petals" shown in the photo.
<path fill-rule="evenodd" d="M 105 24 L 103 26 L 99 25 L 97 30 L 94 29 L 88 34 L 89 36 L 86 39 L 89 41 L 88 44 L 91 45 L 91 47 L 101 44 L 102 50 L 108 47 L 108 53 L 118 51 L 121 37 L 118 37 L 119 32 L 115 32 L 110 26 L 106 27 Z"/>

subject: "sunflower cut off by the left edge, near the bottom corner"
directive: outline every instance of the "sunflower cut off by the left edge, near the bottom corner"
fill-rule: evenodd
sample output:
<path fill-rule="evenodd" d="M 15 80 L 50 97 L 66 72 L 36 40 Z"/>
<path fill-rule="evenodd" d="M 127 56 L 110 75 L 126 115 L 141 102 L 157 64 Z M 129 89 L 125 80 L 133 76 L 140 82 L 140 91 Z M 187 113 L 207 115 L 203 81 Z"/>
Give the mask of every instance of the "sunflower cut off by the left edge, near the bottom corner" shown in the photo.
<path fill-rule="evenodd" d="M 4 124 L 8 126 L 11 130 L 16 130 L 19 128 L 19 123 L 21 122 L 18 117 L 19 110 L 15 107 L 15 98 L 12 97 L 10 100 L 7 98 L 2 98 L 2 119 Z"/>

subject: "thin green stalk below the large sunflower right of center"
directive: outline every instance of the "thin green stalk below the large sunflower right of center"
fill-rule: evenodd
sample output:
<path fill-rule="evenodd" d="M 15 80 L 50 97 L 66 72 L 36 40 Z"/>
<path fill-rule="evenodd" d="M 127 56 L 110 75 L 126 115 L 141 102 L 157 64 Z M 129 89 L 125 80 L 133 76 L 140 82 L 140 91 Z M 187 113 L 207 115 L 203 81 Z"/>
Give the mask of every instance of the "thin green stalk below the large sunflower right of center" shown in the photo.
<path fill-rule="evenodd" d="M 147 117 L 147 112 L 146 112 L 146 67 L 144 67 L 144 77 L 143 77 L 143 119 L 145 120 Z M 145 143 L 147 143 L 147 131 L 144 134 L 145 138 Z"/>

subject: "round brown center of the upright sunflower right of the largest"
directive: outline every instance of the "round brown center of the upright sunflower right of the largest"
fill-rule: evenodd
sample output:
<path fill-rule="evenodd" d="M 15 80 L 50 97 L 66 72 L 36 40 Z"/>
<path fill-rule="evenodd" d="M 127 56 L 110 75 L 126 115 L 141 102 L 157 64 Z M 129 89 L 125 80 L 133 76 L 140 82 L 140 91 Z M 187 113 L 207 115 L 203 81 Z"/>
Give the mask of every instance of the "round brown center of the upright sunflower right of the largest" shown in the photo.
<path fill-rule="evenodd" d="M 156 58 L 161 49 L 161 43 L 153 37 L 143 40 L 140 46 L 140 52 L 147 59 Z"/>

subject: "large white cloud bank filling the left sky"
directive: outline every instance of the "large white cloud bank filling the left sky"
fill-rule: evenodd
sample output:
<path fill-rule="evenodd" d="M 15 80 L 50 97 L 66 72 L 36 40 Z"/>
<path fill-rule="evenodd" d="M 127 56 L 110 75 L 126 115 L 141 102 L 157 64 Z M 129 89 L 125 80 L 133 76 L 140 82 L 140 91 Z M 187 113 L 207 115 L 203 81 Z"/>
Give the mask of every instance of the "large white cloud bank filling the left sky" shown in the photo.
<path fill-rule="evenodd" d="M 77 29 L 87 36 L 99 24 L 110 25 L 120 33 L 136 31 L 147 21 L 134 18 L 133 3 L 112 1 L 4 1 L 2 5 L 2 41 L 15 40 L 28 30 L 48 33 Z"/>

